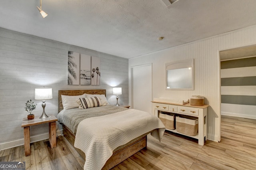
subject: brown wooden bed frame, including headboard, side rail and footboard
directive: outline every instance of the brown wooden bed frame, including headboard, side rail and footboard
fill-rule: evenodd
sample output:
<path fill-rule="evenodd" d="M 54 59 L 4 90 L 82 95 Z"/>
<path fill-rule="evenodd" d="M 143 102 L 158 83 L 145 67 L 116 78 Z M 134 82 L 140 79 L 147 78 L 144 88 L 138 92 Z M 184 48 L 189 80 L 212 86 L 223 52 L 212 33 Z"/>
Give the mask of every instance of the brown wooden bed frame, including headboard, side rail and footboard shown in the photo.
<path fill-rule="evenodd" d="M 82 95 L 82 94 L 100 94 L 106 96 L 106 89 L 97 89 L 97 90 L 59 90 L 58 94 L 58 111 L 60 112 L 63 110 L 61 95 L 69 95 L 69 96 L 75 96 L 75 95 Z M 150 133 L 150 132 L 148 132 Z M 148 134 L 147 133 L 147 134 Z M 74 147 L 75 142 L 75 136 L 72 133 L 72 131 L 67 128 L 65 125 L 63 125 L 63 134 L 65 138 L 72 144 Z M 109 170 L 110 168 L 113 168 L 117 164 L 121 163 L 122 161 L 126 160 L 136 152 L 140 151 L 141 149 L 145 148 L 147 146 L 147 134 L 144 134 L 140 136 L 139 138 L 136 138 L 128 144 L 125 144 L 123 146 L 118 147 L 113 151 L 113 155 L 107 160 L 106 164 L 102 168 L 103 170 Z M 76 151 L 86 160 L 86 156 L 84 152 L 76 147 L 74 147 Z"/>

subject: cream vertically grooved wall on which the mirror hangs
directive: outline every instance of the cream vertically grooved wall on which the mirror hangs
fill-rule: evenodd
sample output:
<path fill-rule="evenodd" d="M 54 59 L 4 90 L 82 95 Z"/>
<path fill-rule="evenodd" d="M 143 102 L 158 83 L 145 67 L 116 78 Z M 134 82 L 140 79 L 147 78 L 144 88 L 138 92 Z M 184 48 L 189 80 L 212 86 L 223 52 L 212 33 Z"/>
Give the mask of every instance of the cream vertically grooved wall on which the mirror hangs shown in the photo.
<path fill-rule="evenodd" d="M 163 40 L 164 41 L 164 40 Z M 220 57 L 219 51 L 256 44 L 256 26 L 186 43 L 140 57 L 129 59 L 130 67 L 152 63 L 152 97 L 190 99 L 192 95 L 205 97 L 208 107 L 207 138 L 220 141 Z M 165 63 L 194 59 L 194 91 L 165 90 Z M 129 99 L 131 99 L 129 92 Z M 132 103 L 130 101 L 130 103 Z"/>

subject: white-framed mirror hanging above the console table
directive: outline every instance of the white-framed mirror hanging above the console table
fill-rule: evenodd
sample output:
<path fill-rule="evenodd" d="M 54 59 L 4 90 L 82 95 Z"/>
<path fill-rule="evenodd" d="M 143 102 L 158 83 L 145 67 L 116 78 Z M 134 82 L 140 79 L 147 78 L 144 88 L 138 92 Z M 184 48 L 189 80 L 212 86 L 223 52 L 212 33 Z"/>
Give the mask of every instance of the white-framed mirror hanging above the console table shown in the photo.
<path fill-rule="evenodd" d="M 194 90 L 194 59 L 165 64 L 166 90 Z"/>

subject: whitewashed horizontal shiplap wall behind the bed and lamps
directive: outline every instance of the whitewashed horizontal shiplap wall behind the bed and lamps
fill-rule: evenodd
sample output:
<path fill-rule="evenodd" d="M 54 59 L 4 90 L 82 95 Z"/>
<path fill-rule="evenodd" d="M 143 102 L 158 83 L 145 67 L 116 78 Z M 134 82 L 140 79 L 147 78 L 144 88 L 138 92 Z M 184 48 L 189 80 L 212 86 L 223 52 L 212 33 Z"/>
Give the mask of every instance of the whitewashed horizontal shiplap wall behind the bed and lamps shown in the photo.
<path fill-rule="evenodd" d="M 100 57 L 99 86 L 67 85 L 68 51 Z M 57 116 L 58 90 L 65 89 L 106 89 L 106 97 L 114 105 L 112 87 L 118 86 L 122 87 L 118 103 L 128 104 L 128 59 L 0 28 L 1 150 L 24 144 L 25 103 L 35 101 L 38 105 L 32 113 L 40 116 L 42 101 L 34 100 L 34 88 L 43 86 L 53 88 L 53 99 L 46 101 L 48 115 Z M 30 135 L 31 142 L 48 138 L 48 125 L 31 127 Z"/>

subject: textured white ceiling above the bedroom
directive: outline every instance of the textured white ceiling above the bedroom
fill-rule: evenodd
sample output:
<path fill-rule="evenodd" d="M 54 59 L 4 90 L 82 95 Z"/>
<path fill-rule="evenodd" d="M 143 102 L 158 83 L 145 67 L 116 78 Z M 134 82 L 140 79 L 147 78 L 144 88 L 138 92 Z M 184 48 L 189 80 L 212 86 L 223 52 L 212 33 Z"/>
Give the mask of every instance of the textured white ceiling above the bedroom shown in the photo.
<path fill-rule="evenodd" d="M 256 25 L 256 0 L 42 0 L 44 19 L 36 6 L 1 0 L 0 27 L 126 58 Z"/>

